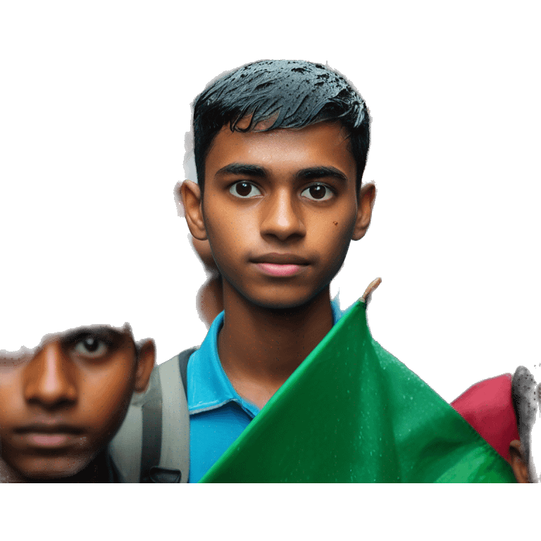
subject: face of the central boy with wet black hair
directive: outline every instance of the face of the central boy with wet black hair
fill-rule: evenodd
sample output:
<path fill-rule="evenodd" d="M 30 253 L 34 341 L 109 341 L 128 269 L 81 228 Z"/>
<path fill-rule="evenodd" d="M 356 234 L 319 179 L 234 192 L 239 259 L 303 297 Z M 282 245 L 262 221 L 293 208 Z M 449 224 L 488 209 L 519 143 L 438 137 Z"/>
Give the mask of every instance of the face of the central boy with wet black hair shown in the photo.
<path fill-rule="evenodd" d="M 306 303 L 328 287 L 351 240 L 366 232 L 370 201 L 361 195 L 357 206 L 356 163 L 345 137 L 336 123 L 247 133 L 226 125 L 216 135 L 205 166 L 204 228 L 199 222 L 192 235 L 209 239 L 220 273 L 252 303 L 268 309 Z M 231 164 L 264 168 L 265 176 L 220 172 Z M 344 180 L 297 178 L 318 167 L 334 168 Z M 295 254 L 308 264 L 287 279 L 269 278 L 251 260 L 270 252 Z"/>

